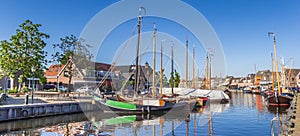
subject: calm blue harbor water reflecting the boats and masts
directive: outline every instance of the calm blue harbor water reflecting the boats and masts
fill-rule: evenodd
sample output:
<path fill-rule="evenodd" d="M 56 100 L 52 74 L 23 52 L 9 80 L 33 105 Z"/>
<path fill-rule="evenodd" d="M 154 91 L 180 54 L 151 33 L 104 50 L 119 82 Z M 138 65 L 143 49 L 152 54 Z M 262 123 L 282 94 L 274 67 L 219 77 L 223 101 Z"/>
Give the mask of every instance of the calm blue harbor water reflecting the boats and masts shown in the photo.
<path fill-rule="evenodd" d="M 268 109 L 261 95 L 233 93 L 228 104 L 207 104 L 184 117 L 89 112 L 3 122 L 0 135 L 268 136 L 276 135 L 271 120 L 284 120 L 283 111 Z"/>

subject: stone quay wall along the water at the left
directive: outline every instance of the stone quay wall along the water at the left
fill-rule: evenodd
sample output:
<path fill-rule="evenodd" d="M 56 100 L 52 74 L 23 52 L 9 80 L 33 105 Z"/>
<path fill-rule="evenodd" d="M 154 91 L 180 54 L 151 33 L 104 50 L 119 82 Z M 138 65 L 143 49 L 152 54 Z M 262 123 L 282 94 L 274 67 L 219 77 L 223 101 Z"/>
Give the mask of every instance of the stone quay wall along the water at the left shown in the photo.
<path fill-rule="evenodd" d="M 24 98 L 15 97 L 6 100 L 8 104 L 0 106 L 0 122 L 35 117 L 55 116 L 64 114 L 93 111 L 95 104 L 91 100 L 68 100 L 67 97 L 52 99 L 34 99 L 33 104 L 24 104 Z M 23 102 L 23 104 L 21 104 Z"/>

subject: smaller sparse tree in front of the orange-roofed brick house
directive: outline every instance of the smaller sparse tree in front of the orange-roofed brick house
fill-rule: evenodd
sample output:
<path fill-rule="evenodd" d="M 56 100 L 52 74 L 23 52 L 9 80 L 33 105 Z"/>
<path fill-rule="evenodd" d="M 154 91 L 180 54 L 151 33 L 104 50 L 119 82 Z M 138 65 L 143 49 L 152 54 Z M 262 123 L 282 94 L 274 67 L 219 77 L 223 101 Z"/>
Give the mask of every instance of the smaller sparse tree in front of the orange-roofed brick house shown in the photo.
<path fill-rule="evenodd" d="M 74 35 L 60 38 L 60 41 L 60 44 L 53 44 L 53 48 L 58 48 L 58 50 L 52 54 L 53 59 L 51 62 L 68 64 L 65 71 L 68 73 L 68 90 L 70 91 L 72 78 L 77 75 L 74 64 L 80 64 L 76 65 L 77 69 L 88 71 L 93 55 L 88 50 L 91 46 L 84 44 L 84 40 L 78 39 Z"/>

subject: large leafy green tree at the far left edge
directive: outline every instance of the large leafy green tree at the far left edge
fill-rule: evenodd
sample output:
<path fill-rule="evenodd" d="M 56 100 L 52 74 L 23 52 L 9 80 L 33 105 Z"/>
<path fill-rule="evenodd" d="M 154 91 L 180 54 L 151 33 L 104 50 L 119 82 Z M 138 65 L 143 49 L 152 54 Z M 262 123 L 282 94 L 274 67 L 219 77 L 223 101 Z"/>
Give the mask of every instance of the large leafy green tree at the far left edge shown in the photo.
<path fill-rule="evenodd" d="M 0 69 L 12 79 L 11 82 L 20 75 L 18 90 L 27 78 L 44 76 L 47 65 L 47 52 L 43 50 L 46 46 L 44 40 L 48 39 L 49 35 L 40 32 L 39 27 L 41 24 L 26 20 L 19 25 L 16 34 L 12 35 L 9 41 L 0 41 Z"/>

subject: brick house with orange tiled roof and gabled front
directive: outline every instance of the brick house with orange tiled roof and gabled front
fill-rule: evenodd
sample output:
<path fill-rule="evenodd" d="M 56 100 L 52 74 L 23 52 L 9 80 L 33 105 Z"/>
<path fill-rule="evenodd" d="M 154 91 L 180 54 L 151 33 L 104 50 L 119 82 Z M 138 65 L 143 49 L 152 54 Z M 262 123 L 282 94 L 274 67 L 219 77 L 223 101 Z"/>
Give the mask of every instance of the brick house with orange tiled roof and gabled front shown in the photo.
<path fill-rule="evenodd" d="M 45 71 L 45 77 L 47 84 L 54 84 L 59 86 L 68 87 L 69 84 L 69 67 L 72 65 L 72 78 L 70 81 L 70 89 L 74 90 L 80 86 L 96 86 L 100 83 L 102 78 L 108 72 L 111 67 L 110 64 L 91 62 L 90 68 L 79 68 L 71 61 L 66 64 L 51 65 Z M 114 76 L 114 72 L 109 73 L 109 76 L 104 80 L 104 85 L 111 85 L 111 78 Z"/>

